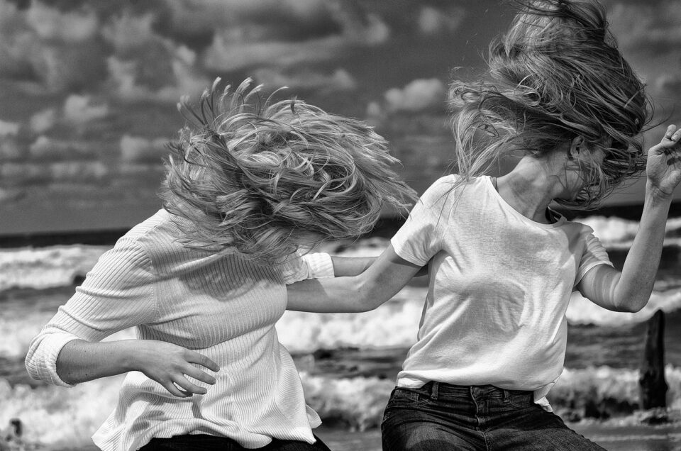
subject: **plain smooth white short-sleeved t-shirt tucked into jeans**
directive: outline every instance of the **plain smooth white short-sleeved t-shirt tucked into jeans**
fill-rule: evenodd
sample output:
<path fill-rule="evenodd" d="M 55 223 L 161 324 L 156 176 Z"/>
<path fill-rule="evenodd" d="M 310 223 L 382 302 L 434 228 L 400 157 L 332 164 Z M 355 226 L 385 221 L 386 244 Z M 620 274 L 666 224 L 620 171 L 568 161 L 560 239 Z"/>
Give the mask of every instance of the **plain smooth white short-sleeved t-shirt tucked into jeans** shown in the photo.
<path fill-rule="evenodd" d="M 582 223 L 536 223 L 499 196 L 489 177 L 454 188 L 438 179 L 392 238 L 397 255 L 430 281 L 417 341 L 397 385 L 492 384 L 545 396 L 563 372 L 570 294 L 597 265 L 612 265 Z M 432 260 L 431 260 L 432 259 Z"/>

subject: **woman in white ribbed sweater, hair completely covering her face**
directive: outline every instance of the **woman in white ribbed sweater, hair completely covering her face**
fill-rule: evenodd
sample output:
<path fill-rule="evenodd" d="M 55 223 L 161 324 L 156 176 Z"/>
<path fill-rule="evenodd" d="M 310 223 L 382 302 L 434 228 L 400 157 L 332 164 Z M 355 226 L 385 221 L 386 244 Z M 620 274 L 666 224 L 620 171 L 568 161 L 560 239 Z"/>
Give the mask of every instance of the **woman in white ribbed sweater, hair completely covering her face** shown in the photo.
<path fill-rule="evenodd" d="M 299 258 L 370 230 L 413 192 L 384 139 L 301 101 L 260 101 L 250 80 L 182 111 L 164 209 L 101 256 L 28 350 L 31 377 L 62 386 L 128 373 L 93 440 L 102 450 L 313 451 L 298 372 L 275 322 L 285 284 L 367 262 Z M 101 342 L 135 327 L 137 340 Z M 101 342 L 101 343 L 100 343 Z"/>

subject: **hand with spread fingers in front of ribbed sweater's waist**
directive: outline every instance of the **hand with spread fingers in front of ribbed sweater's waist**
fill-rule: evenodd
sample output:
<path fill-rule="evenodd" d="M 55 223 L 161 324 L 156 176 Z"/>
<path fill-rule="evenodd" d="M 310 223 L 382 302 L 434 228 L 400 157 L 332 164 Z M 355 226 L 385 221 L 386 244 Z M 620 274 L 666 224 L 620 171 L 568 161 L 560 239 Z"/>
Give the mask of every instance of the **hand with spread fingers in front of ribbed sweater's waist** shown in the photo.
<path fill-rule="evenodd" d="M 189 382 L 186 376 L 213 385 L 216 380 L 210 374 L 196 367 L 218 372 L 218 364 L 205 355 L 184 347 L 157 340 L 131 340 L 134 344 L 132 368 L 143 372 L 179 398 L 193 394 L 206 394 L 205 387 Z"/>

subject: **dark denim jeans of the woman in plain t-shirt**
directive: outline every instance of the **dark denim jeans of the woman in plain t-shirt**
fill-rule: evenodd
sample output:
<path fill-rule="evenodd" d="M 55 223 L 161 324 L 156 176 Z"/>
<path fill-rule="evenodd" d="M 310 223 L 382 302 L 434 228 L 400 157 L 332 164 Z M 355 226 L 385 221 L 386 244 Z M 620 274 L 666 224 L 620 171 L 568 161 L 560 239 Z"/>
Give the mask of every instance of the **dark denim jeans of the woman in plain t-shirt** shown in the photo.
<path fill-rule="evenodd" d="M 381 430 L 384 451 L 604 450 L 534 403 L 531 391 L 492 385 L 396 387 Z"/>

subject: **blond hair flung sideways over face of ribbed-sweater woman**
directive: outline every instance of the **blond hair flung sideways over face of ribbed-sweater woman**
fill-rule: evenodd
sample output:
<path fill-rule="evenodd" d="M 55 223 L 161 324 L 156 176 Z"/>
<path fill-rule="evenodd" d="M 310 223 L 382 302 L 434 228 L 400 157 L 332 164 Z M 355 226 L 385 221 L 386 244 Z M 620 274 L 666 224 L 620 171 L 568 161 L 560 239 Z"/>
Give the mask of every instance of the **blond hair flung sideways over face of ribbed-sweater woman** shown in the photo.
<path fill-rule="evenodd" d="M 246 79 L 197 107 L 178 104 L 190 125 L 170 144 L 160 196 L 179 216 L 182 243 L 233 248 L 276 263 L 324 238 L 369 231 L 384 203 L 401 211 L 416 194 L 397 179 L 384 138 L 361 121 L 303 101 L 262 101 Z"/>

